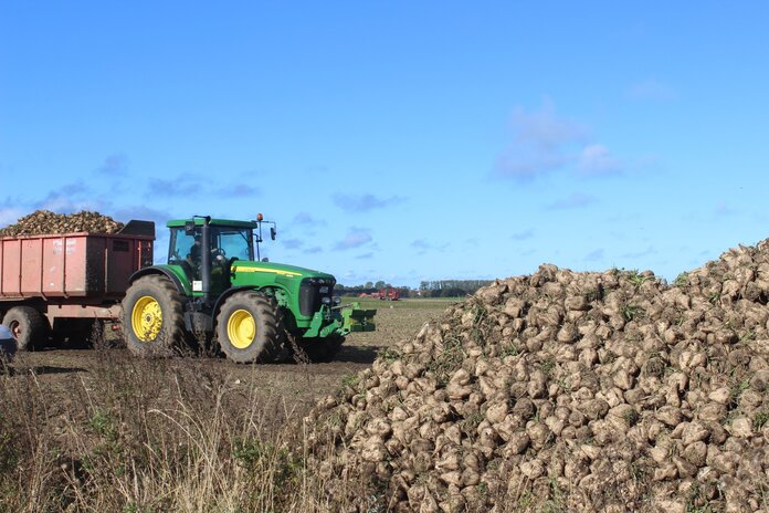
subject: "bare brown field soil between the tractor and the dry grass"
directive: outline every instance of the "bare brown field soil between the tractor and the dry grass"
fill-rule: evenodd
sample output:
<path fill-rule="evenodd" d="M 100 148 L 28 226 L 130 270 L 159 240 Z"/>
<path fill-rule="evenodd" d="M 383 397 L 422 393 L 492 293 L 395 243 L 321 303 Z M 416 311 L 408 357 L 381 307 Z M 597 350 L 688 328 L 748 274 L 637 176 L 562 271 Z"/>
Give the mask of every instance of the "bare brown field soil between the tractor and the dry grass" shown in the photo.
<path fill-rule="evenodd" d="M 299 365 L 284 360 L 268 365 L 234 364 L 223 357 L 171 358 L 146 362 L 131 357 L 127 349 L 42 349 L 19 353 L 13 375 L 34 375 L 36 386 L 55 411 L 49 416 L 77 416 L 84 397 L 94 397 L 104 387 L 122 381 L 170 383 L 175 376 L 198 379 L 201 387 L 225 383 L 231 399 L 257 401 L 273 422 L 304 416 L 315 401 L 333 394 L 346 376 L 371 365 L 377 353 L 410 338 L 428 321 L 439 317 L 450 306 L 446 301 L 405 300 L 366 302 L 364 307 L 378 308 L 377 331 L 348 336 L 335 360 L 328 364 Z M 11 376 L 13 378 L 13 376 Z M 81 390 L 75 392 L 75 390 Z M 245 405 L 244 405 L 245 406 Z"/>

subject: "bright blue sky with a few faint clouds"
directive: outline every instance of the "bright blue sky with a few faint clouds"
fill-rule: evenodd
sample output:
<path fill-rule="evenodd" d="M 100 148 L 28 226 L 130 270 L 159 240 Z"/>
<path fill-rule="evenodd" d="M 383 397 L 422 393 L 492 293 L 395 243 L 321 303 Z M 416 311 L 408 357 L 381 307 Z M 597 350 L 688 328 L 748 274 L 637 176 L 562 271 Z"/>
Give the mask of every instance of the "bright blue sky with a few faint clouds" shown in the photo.
<path fill-rule="evenodd" d="M 769 237 L 766 2 L 0 0 L 0 226 L 275 220 L 339 282 Z M 167 238 L 158 229 L 158 259 Z"/>

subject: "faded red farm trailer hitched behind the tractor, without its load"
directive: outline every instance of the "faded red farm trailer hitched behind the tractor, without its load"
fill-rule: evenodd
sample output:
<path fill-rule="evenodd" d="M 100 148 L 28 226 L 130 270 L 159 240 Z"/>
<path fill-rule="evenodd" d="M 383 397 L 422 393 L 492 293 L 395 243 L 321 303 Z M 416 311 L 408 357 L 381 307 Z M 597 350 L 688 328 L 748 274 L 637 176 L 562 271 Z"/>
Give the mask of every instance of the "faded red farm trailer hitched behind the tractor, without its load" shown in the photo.
<path fill-rule="evenodd" d="M 118 321 L 131 275 L 152 265 L 155 223 L 118 233 L 0 238 L 0 318 L 19 349 L 83 342 L 96 321 Z"/>

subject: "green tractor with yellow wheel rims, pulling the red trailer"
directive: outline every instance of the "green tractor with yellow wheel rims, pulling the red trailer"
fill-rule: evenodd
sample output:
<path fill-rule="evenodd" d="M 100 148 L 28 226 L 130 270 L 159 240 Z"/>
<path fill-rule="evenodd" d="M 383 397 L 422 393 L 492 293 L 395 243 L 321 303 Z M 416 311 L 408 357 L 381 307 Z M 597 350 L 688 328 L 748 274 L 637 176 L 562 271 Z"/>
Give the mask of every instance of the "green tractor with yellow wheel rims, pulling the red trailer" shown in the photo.
<path fill-rule="evenodd" d="M 260 260 L 267 222 L 261 213 L 256 221 L 169 221 L 168 263 L 136 272 L 123 300 L 131 353 L 162 356 L 215 339 L 238 363 L 272 362 L 286 349 L 324 362 L 350 332 L 373 331 L 376 310 L 343 306 L 333 275 Z"/>

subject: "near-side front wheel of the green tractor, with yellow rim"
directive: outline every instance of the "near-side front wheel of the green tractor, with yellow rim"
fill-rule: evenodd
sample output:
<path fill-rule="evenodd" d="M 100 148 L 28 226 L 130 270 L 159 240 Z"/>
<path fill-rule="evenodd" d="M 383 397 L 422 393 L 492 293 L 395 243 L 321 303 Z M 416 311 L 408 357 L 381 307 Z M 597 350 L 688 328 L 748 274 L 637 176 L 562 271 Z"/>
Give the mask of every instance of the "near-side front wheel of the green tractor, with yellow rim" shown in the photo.
<path fill-rule="evenodd" d="M 217 315 L 219 347 L 233 362 L 274 362 L 283 352 L 285 329 L 280 307 L 259 292 L 238 292 Z"/>

